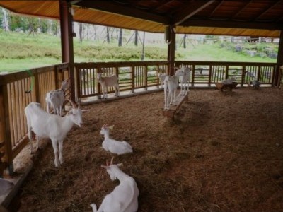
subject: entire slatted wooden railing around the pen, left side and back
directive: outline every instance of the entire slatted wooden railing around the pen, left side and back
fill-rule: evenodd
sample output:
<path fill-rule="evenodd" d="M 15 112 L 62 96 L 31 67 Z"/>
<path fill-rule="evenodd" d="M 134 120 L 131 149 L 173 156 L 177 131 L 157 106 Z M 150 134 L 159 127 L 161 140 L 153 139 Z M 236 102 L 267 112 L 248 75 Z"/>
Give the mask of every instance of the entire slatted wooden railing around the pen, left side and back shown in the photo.
<path fill-rule="evenodd" d="M 175 66 L 191 66 L 191 87 L 214 87 L 216 82 L 236 76 L 240 86 L 249 81 L 261 81 L 264 86 L 282 86 L 283 71 L 274 63 L 175 61 Z M 137 93 L 160 88 L 157 73 L 168 73 L 167 61 L 136 61 L 109 63 L 76 63 L 71 92 L 76 100 L 100 97 L 96 73 L 119 78 L 120 91 Z M 40 102 L 46 109 L 45 95 L 59 88 L 60 81 L 69 78 L 69 64 L 47 66 L 0 75 L 0 175 L 8 167 L 13 172 L 13 159 L 28 143 L 24 108 L 30 102 Z M 108 93 L 114 90 L 109 88 Z M 67 94 L 69 95 L 69 94 Z"/>

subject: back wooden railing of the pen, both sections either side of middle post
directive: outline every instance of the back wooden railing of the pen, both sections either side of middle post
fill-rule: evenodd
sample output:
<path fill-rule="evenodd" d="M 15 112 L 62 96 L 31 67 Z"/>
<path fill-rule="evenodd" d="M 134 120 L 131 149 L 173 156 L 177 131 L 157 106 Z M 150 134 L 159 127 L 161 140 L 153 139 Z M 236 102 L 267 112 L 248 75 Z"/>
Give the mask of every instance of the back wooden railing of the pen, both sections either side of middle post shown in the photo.
<path fill-rule="evenodd" d="M 262 85 L 274 86 L 277 64 L 243 63 L 243 62 L 208 62 L 208 61 L 175 61 L 175 66 L 191 66 L 190 86 L 211 87 L 226 78 L 236 77 L 241 86 L 250 81 L 260 81 Z M 110 62 L 74 64 L 76 69 L 76 97 L 79 99 L 100 96 L 100 85 L 96 73 L 103 76 L 116 74 L 119 78 L 120 91 L 130 90 L 132 93 L 140 88 L 159 88 L 158 72 L 168 73 L 166 61 Z M 108 88 L 108 93 L 113 93 Z"/>

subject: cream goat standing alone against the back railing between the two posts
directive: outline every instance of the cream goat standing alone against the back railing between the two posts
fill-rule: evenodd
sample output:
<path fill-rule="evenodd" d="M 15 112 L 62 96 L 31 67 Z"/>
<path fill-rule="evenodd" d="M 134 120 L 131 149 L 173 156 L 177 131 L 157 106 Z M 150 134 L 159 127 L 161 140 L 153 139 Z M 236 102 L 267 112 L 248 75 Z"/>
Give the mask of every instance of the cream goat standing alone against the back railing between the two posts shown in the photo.
<path fill-rule="evenodd" d="M 112 86 L 115 88 L 115 96 L 120 95 L 118 77 L 116 75 L 113 74 L 111 76 L 101 76 L 101 73 L 97 73 L 96 76 L 102 88 L 103 99 L 107 99 L 108 87 Z"/>

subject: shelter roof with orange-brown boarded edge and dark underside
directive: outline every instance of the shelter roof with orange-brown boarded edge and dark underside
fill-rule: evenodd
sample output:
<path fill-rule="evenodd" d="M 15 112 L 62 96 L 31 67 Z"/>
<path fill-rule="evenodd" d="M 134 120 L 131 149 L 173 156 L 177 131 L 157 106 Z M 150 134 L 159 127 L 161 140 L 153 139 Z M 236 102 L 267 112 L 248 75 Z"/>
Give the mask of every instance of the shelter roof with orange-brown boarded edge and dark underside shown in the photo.
<path fill-rule="evenodd" d="M 163 33 L 279 37 L 283 0 L 108 0 L 67 1 L 74 20 L 116 28 Z M 0 1 L 15 13 L 59 19 L 59 1 Z"/>

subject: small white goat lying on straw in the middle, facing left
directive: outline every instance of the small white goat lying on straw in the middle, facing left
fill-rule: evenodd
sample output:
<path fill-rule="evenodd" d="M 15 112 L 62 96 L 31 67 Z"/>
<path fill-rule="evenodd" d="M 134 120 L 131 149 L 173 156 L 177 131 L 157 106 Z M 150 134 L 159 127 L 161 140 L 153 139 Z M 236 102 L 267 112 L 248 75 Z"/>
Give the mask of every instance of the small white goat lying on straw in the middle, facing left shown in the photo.
<path fill-rule="evenodd" d="M 112 129 L 113 126 L 107 126 L 106 124 L 102 126 L 100 130 L 100 134 L 104 136 L 104 141 L 102 143 L 102 147 L 105 151 L 110 151 L 111 153 L 122 155 L 125 153 L 132 153 L 132 146 L 127 143 L 127 141 L 116 141 L 114 139 L 110 139 L 109 137 L 109 129 Z"/>

